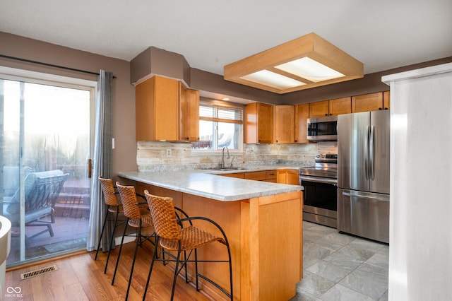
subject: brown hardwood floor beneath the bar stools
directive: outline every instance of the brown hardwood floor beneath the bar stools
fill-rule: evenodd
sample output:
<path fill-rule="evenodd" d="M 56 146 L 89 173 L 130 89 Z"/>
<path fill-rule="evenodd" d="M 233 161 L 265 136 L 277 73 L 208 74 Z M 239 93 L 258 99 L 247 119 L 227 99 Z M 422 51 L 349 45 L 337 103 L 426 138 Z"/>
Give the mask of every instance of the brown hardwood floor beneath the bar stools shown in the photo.
<path fill-rule="evenodd" d="M 151 259 L 151 247 L 149 242 L 145 242 L 143 247 L 138 249 L 135 269 L 133 271 L 133 281 L 129 293 L 129 300 L 141 300 L 145 281 Z M 56 259 L 43 264 L 35 264 L 26 268 L 19 268 L 6 273 L 5 290 L 8 287 L 20 288 L 21 296 L 12 293 L 4 295 L 4 300 L 124 300 L 133 249 L 135 243 L 124 244 L 122 249 L 119 268 L 114 285 L 111 285 L 114 264 L 119 247 L 112 252 L 109 261 L 107 274 L 104 274 L 107 253 L 100 252 L 97 260 L 94 260 L 95 252 L 86 252 L 69 256 L 64 259 Z M 35 271 L 47 266 L 57 266 L 57 271 L 44 273 L 25 280 L 20 280 L 20 274 Z M 153 275 L 148 288 L 146 300 L 169 300 L 171 296 L 173 271 L 167 266 L 162 266 L 161 262 L 154 264 Z M 196 292 L 192 283 L 185 283 L 184 279 L 177 279 L 177 286 L 174 300 L 210 300 L 201 292 Z"/>

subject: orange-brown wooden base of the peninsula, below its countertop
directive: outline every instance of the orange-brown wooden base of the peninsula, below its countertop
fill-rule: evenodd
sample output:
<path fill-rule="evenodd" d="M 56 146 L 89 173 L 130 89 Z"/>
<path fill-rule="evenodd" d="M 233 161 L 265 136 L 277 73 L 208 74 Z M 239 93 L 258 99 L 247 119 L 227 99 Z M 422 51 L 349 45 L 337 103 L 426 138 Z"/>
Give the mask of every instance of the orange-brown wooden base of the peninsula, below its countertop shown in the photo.
<path fill-rule="evenodd" d="M 225 230 L 232 254 L 234 300 L 290 300 L 296 295 L 296 283 L 302 279 L 302 191 L 217 201 L 142 182 L 133 184 L 140 194 L 148 189 L 150 194 L 171 196 L 189 216 L 211 218 Z M 220 235 L 216 228 L 197 222 L 199 227 Z M 198 249 L 198 259 L 219 257 L 227 258 L 222 244 Z M 227 264 L 200 262 L 198 269 L 228 287 Z M 194 283 L 193 265 L 188 266 L 188 273 Z M 201 278 L 199 281 L 201 290 L 213 300 L 227 300 L 213 285 Z"/>

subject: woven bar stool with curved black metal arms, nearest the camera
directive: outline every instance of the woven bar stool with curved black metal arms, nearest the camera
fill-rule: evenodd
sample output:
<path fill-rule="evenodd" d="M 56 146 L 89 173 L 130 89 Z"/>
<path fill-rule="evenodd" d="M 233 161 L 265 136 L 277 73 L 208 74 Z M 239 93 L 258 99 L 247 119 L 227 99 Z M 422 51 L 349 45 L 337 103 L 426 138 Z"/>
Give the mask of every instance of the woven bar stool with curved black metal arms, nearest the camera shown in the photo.
<path fill-rule="evenodd" d="M 233 300 L 231 250 L 225 232 L 222 230 L 220 225 L 215 223 L 213 220 L 210 220 L 209 218 L 187 216 L 184 211 L 177 207 L 174 207 L 173 199 L 170 197 L 153 196 L 152 194 L 149 194 L 147 190 L 144 191 L 144 194 L 149 204 L 150 214 L 153 218 L 157 240 L 155 242 L 153 260 L 150 264 L 148 281 L 146 281 L 143 300 L 145 300 L 146 292 L 148 290 L 154 261 L 176 262 L 176 268 L 174 269 L 174 278 L 172 283 L 171 300 L 173 300 L 174 298 L 174 288 L 176 288 L 177 276 L 179 275 L 179 272 L 182 271 L 182 268 L 185 268 L 185 281 L 188 282 L 186 274 L 187 262 L 195 263 L 196 290 L 199 290 L 198 277 L 201 277 L 209 283 L 215 285 L 215 287 L 221 290 L 222 293 Z M 220 232 L 222 233 L 222 237 L 217 237 L 210 232 L 195 227 L 191 222 L 192 220 L 206 220 L 208 223 L 215 225 L 215 227 L 218 228 L 218 230 L 220 230 Z M 186 223 L 188 226 L 182 227 L 184 223 Z M 224 288 L 221 288 L 220 285 L 218 285 L 218 283 L 215 283 L 212 279 L 209 279 L 206 276 L 201 275 L 201 273 L 198 273 L 198 255 L 196 249 L 212 242 L 220 242 L 221 244 L 225 244 L 225 246 L 227 247 L 229 260 L 203 260 L 202 262 L 225 262 L 229 264 L 230 293 L 228 293 Z M 164 250 L 177 251 L 177 256 L 165 252 L 164 254 L 168 254 L 172 259 L 165 259 L 165 256 L 162 259 L 157 258 L 157 244 L 160 244 L 160 246 Z M 184 259 L 181 259 L 182 252 L 184 252 Z M 186 255 L 186 252 L 189 253 L 188 256 Z M 189 260 L 192 252 L 194 252 L 195 258 L 194 260 Z M 181 264 L 180 267 L 179 264 Z"/>

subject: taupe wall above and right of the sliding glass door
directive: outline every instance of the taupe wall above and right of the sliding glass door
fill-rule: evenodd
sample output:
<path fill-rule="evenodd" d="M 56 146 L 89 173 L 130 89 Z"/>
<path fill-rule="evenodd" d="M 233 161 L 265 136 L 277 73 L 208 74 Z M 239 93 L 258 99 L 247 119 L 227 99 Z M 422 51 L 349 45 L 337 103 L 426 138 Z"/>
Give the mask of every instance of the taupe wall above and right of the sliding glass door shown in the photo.
<path fill-rule="evenodd" d="M 130 83 L 130 64 L 128 61 L 103 57 L 101 55 L 52 45 L 8 33 L 0 32 L 0 41 L 0 54 L 3 55 L 96 73 L 100 69 L 113 72 L 117 78 L 113 80 L 112 130 L 115 138 L 115 149 L 112 151 L 112 175 L 116 175 L 119 171 L 137 170 L 135 88 Z M 64 71 L 62 69 L 1 57 L 0 65 L 97 81 L 97 76 L 91 76 L 86 73 Z"/>

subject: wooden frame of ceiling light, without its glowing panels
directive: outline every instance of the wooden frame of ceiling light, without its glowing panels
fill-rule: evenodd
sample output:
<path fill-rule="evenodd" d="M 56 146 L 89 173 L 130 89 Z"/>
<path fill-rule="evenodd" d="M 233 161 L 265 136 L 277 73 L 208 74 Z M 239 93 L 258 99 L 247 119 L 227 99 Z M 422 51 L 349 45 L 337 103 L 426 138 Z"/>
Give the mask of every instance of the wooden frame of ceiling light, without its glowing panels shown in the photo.
<path fill-rule="evenodd" d="M 328 66 L 329 68 L 344 74 L 344 76 L 314 82 L 309 81 L 307 78 L 302 78 L 295 74 L 287 73 L 275 68 L 275 66 L 280 64 L 295 61 L 296 59 L 301 59 L 303 57 L 314 59 L 314 61 Z M 242 78 L 243 76 L 262 70 L 272 71 L 274 73 L 293 78 L 296 81 L 306 83 L 306 85 L 299 85 L 290 88 L 278 88 Z M 224 78 L 226 81 L 241 83 L 242 85 L 249 85 L 254 88 L 283 94 L 297 90 L 319 87 L 321 85 L 329 85 L 331 83 L 339 83 L 342 81 L 362 78 L 364 76 L 363 70 L 364 66 L 362 62 L 351 57 L 338 47 L 335 47 L 319 35 L 309 33 L 308 35 L 298 37 L 297 39 L 286 42 L 282 45 L 278 45 L 266 51 L 254 54 L 251 57 L 246 57 L 245 59 L 226 65 L 224 69 Z"/>

